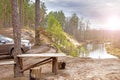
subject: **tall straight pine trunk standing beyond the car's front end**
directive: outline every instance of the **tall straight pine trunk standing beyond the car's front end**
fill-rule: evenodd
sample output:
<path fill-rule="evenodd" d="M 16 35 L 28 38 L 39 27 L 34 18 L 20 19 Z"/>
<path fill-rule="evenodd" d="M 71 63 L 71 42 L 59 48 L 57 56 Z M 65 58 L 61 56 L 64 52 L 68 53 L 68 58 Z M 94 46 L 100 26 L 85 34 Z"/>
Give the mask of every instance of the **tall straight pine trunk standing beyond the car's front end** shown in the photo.
<path fill-rule="evenodd" d="M 40 0 L 35 0 L 35 45 L 40 45 Z"/>

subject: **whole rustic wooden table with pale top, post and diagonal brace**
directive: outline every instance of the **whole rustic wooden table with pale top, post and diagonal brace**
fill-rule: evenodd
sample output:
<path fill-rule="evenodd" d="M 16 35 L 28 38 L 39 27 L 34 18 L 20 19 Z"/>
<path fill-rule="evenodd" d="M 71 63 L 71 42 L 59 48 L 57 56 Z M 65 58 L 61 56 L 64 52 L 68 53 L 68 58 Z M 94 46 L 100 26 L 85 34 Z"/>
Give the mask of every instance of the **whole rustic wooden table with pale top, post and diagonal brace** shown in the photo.
<path fill-rule="evenodd" d="M 52 72 L 57 74 L 58 71 L 58 57 L 66 56 L 64 53 L 40 53 L 40 54 L 21 54 L 17 55 L 18 60 L 20 61 L 22 58 L 33 58 L 33 57 L 40 57 L 40 58 L 47 58 L 43 61 L 40 61 L 39 63 L 35 63 L 32 66 L 29 66 L 25 69 L 22 69 L 21 71 L 24 72 L 30 68 L 35 67 L 38 64 L 46 64 L 52 61 Z"/>

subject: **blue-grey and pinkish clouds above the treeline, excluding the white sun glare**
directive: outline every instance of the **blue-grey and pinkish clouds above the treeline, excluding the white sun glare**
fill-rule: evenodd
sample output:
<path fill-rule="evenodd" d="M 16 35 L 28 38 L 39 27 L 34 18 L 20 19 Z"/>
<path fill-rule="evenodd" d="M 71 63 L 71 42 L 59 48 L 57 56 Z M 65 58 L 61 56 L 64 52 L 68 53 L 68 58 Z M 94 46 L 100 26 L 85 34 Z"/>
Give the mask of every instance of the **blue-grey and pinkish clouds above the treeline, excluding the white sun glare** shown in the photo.
<path fill-rule="evenodd" d="M 76 13 L 96 23 L 104 23 L 110 15 L 120 16 L 120 0 L 44 0 L 48 12 L 62 10 L 66 16 Z"/>

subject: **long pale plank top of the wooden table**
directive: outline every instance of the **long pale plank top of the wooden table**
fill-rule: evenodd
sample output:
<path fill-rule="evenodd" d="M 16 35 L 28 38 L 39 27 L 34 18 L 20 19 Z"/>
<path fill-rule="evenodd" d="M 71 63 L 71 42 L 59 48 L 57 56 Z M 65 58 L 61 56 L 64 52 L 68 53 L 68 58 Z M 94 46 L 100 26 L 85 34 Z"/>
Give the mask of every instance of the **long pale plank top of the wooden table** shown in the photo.
<path fill-rule="evenodd" d="M 66 56 L 64 53 L 40 53 L 40 54 L 21 54 L 17 57 L 27 58 L 27 57 L 63 57 Z"/>

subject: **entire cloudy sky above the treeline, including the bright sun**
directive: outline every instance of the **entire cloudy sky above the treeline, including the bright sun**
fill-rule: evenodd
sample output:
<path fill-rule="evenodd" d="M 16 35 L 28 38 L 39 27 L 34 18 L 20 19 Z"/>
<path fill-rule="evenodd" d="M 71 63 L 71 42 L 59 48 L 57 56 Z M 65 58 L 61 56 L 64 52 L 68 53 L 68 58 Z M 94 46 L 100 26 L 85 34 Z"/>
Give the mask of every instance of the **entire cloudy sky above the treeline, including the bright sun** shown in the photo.
<path fill-rule="evenodd" d="M 98 29 L 120 29 L 120 0 L 41 0 L 47 12 L 62 10 L 66 17 L 76 13 Z"/>

